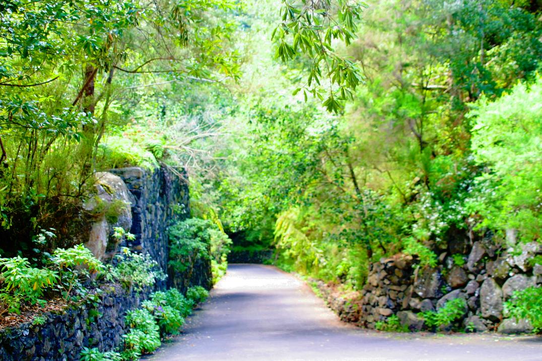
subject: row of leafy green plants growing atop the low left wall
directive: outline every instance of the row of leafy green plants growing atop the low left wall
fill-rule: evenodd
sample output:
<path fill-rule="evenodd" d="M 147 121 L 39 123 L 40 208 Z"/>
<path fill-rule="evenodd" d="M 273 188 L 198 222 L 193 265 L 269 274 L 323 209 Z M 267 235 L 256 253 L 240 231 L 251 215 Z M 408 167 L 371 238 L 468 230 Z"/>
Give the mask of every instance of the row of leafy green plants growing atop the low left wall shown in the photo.
<path fill-rule="evenodd" d="M 115 266 L 104 265 L 82 244 L 55 250 L 44 267 L 32 267 L 20 256 L 0 258 L 0 314 L 20 313 L 21 308 L 44 305 L 57 294 L 66 300 L 94 299 L 100 294 L 98 280 L 120 283 L 136 292 L 152 287 L 166 275 L 158 263 L 146 254 L 132 253 L 127 248 L 117 255 Z"/>

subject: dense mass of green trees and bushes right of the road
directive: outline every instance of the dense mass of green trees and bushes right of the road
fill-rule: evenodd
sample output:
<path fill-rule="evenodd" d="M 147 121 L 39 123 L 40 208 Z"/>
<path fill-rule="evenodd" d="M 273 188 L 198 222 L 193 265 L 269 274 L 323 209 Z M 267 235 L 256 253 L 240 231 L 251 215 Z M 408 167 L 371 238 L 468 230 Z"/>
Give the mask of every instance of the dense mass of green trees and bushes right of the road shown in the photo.
<path fill-rule="evenodd" d="M 327 19 L 342 9 L 295 6 L 279 29 L 299 41 L 313 31 L 299 23 L 312 19 L 303 11 Z M 263 5 L 257 11 L 247 20 L 255 37 L 273 31 L 260 22 Z M 272 244 L 282 267 L 358 289 L 371 260 L 404 252 L 434 266 L 459 234 L 539 241 L 539 11 L 511 1 L 370 6 L 350 46 L 334 49 L 364 80 L 335 114 L 296 90 L 314 72 L 304 49 L 279 59 L 287 70 L 265 50 L 253 55 L 247 72 L 268 80 L 241 78 L 258 90 L 225 114 L 239 145 L 227 177 L 204 181 L 220 194 L 199 199 L 220 210 L 227 230 Z"/>

